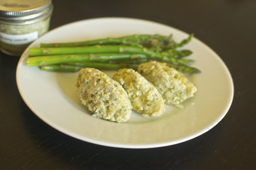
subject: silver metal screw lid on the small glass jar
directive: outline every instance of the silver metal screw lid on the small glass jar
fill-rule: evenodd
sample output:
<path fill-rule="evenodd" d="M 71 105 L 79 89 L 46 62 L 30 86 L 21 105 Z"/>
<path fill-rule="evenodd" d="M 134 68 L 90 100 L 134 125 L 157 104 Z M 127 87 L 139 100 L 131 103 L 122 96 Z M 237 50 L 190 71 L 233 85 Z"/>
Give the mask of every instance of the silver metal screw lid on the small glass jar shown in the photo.
<path fill-rule="evenodd" d="M 0 23 L 31 24 L 49 17 L 52 10 L 51 0 L 1 0 Z"/>

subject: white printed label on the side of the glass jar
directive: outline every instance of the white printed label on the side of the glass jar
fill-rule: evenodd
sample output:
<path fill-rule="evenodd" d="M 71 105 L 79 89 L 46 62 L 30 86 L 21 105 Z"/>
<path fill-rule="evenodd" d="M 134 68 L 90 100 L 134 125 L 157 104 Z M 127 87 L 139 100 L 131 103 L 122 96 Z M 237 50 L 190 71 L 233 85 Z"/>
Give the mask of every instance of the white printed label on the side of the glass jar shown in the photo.
<path fill-rule="evenodd" d="M 12 35 L 0 32 L 0 40 L 6 44 L 23 45 L 38 39 L 38 32 L 30 32 L 27 34 Z"/>

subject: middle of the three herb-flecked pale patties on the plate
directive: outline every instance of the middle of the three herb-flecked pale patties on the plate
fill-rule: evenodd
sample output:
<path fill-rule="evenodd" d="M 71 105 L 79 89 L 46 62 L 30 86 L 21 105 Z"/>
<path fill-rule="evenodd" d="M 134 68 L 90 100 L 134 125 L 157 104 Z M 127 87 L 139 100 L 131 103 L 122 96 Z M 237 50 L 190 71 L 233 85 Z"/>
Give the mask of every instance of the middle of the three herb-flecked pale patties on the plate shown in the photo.
<path fill-rule="evenodd" d="M 120 69 L 113 79 L 119 82 L 131 101 L 133 109 L 144 117 L 160 116 L 165 111 L 165 100 L 155 86 L 133 69 Z"/>

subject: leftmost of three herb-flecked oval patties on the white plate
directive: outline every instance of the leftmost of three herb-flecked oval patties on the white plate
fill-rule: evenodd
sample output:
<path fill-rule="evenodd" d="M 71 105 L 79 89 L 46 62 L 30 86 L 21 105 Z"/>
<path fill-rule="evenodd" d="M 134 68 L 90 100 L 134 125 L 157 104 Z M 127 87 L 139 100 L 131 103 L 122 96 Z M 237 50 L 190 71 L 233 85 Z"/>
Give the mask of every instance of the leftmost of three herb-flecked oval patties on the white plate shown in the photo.
<path fill-rule="evenodd" d="M 96 117 L 119 123 L 130 119 L 132 106 L 127 93 L 105 73 L 94 68 L 81 69 L 76 87 L 82 104 Z"/>

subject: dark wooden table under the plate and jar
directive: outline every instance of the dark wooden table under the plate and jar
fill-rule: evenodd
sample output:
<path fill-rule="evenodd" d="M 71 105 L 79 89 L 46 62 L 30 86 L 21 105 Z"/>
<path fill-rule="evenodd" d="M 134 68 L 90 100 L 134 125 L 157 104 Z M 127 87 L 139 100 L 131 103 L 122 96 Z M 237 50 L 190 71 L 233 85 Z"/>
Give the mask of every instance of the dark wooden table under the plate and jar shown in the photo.
<path fill-rule="evenodd" d="M 214 128 L 183 143 L 152 149 L 101 146 L 63 134 L 35 116 L 17 89 L 19 58 L 0 53 L 0 169 L 255 169 L 256 1 L 53 0 L 53 4 L 50 29 L 88 18 L 131 17 L 193 32 L 229 68 L 233 103 Z"/>

